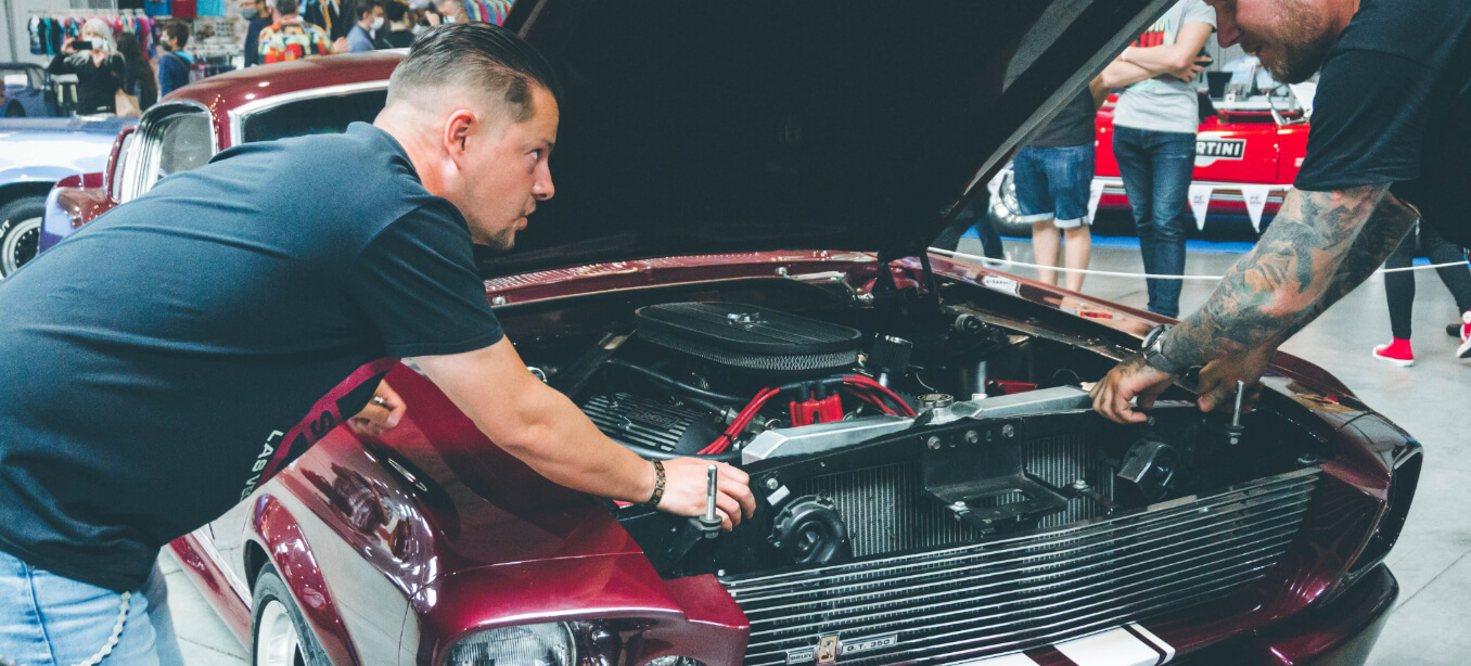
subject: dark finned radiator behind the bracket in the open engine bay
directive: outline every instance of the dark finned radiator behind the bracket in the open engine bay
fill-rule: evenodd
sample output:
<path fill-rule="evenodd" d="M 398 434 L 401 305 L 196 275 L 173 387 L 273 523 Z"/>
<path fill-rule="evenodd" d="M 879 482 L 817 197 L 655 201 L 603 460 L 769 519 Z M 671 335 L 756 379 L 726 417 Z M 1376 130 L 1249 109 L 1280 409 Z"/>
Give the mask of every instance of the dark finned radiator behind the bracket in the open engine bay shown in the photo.
<path fill-rule="evenodd" d="M 1084 479 L 1103 497 L 1114 497 L 1114 470 L 1090 454 L 1081 432 L 1028 441 L 1022 445 L 1022 465 L 1052 485 L 1065 487 Z M 949 509 L 925 495 L 918 462 L 813 476 L 797 482 L 793 490 L 799 495 L 833 498 L 838 516 L 849 526 L 855 557 L 980 540 L 974 528 L 956 520 Z M 1037 526 L 1062 526 L 1102 513 L 1093 501 L 1074 500 L 1066 510 L 1044 516 Z"/>

